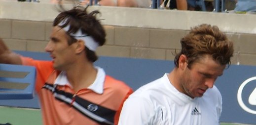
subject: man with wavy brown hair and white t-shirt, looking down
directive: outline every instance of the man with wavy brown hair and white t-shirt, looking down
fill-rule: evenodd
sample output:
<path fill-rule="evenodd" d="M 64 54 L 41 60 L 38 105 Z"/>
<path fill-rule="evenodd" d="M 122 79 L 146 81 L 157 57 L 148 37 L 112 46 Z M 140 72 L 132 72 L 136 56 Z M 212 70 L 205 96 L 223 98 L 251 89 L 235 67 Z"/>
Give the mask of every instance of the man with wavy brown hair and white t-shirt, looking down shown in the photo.
<path fill-rule="evenodd" d="M 230 65 L 233 43 L 217 26 L 204 24 L 181 46 L 170 73 L 124 102 L 118 125 L 219 125 L 222 98 L 214 83 Z"/>

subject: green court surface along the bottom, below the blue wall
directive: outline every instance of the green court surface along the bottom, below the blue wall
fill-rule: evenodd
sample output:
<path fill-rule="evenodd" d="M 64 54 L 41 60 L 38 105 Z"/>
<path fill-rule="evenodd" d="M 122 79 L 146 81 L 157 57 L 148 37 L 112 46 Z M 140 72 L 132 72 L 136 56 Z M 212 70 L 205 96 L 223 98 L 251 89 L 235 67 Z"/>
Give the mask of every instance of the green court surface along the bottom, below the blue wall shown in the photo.
<path fill-rule="evenodd" d="M 39 109 L 0 106 L 0 124 L 11 125 L 42 125 Z M 221 123 L 220 125 L 244 125 Z"/>

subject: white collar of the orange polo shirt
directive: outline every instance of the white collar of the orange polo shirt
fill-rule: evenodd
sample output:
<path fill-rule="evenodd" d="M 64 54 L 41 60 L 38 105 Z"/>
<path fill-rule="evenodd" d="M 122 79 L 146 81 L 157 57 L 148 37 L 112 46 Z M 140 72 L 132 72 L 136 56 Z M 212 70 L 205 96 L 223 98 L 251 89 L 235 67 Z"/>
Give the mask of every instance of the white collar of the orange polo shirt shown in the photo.
<path fill-rule="evenodd" d="M 96 79 L 94 80 L 94 82 L 87 89 L 90 89 L 90 90 L 92 90 L 92 91 L 94 91 L 95 93 L 98 93 L 98 94 L 103 94 L 104 81 L 105 81 L 106 73 L 105 73 L 104 69 L 102 69 L 100 67 L 95 67 L 95 68 L 98 71 Z M 58 77 L 54 81 L 54 84 L 55 85 L 61 85 L 61 86 L 68 85 L 68 86 L 72 87 L 72 85 L 70 84 L 70 82 L 67 78 L 67 74 L 66 74 L 65 71 L 62 71 L 58 75 Z"/>

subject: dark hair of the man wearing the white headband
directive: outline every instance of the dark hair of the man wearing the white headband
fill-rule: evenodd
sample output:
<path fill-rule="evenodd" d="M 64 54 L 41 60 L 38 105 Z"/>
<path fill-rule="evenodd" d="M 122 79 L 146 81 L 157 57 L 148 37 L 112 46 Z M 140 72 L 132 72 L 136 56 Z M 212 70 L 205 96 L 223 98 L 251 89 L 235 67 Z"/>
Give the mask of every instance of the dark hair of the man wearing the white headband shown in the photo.
<path fill-rule="evenodd" d="M 106 42 L 106 32 L 100 21 L 96 18 L 96 15 L 100 14 L 100 12 L 94 10 L 87 13 L 87 8 L 88 6 L 83 7 L 76 4 L 72 9 L 65 10 L 64 7 L 59 4 L 60 14 L 54 19 L 53 26 L 58 25 L 63 28 L 70 25 L 70 29 L 67 31 L 67 34 L 75 33 L 78 29 L 81 29 L 82 33 L 90 35 L 98 42 L 99 46 L 103 46 Z M 63 21 L 65 21 L 65 23 L 63 25 L 59 25 Z M 73 36 L 70 36 L 70 38 L 71 39 L 68 41 L 69 45 L 77 41 Z M 98 59 L 96 53 L 89 50 L 87 47 L 85 48 L 87 59 L 91 62 L 95 62 Z"/>

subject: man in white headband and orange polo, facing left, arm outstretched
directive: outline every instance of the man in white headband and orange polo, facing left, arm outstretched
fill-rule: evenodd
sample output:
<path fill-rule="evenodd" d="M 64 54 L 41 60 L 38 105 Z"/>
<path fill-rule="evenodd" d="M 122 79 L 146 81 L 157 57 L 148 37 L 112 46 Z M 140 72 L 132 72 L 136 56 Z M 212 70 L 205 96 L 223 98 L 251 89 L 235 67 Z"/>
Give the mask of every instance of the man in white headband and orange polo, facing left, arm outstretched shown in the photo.
<path fill-rule="evenodd" d="M 37 68 L 44 125 L 117 125 L 122 104 L 133 92 L 93 65 L 106 33 L 96 19 L 99 11 L 87 13 L 86 8 L 76 6 L 55 18 L 45 48 L 52 61 L 18 55 L 0 39 L 0 63 Z"/>

